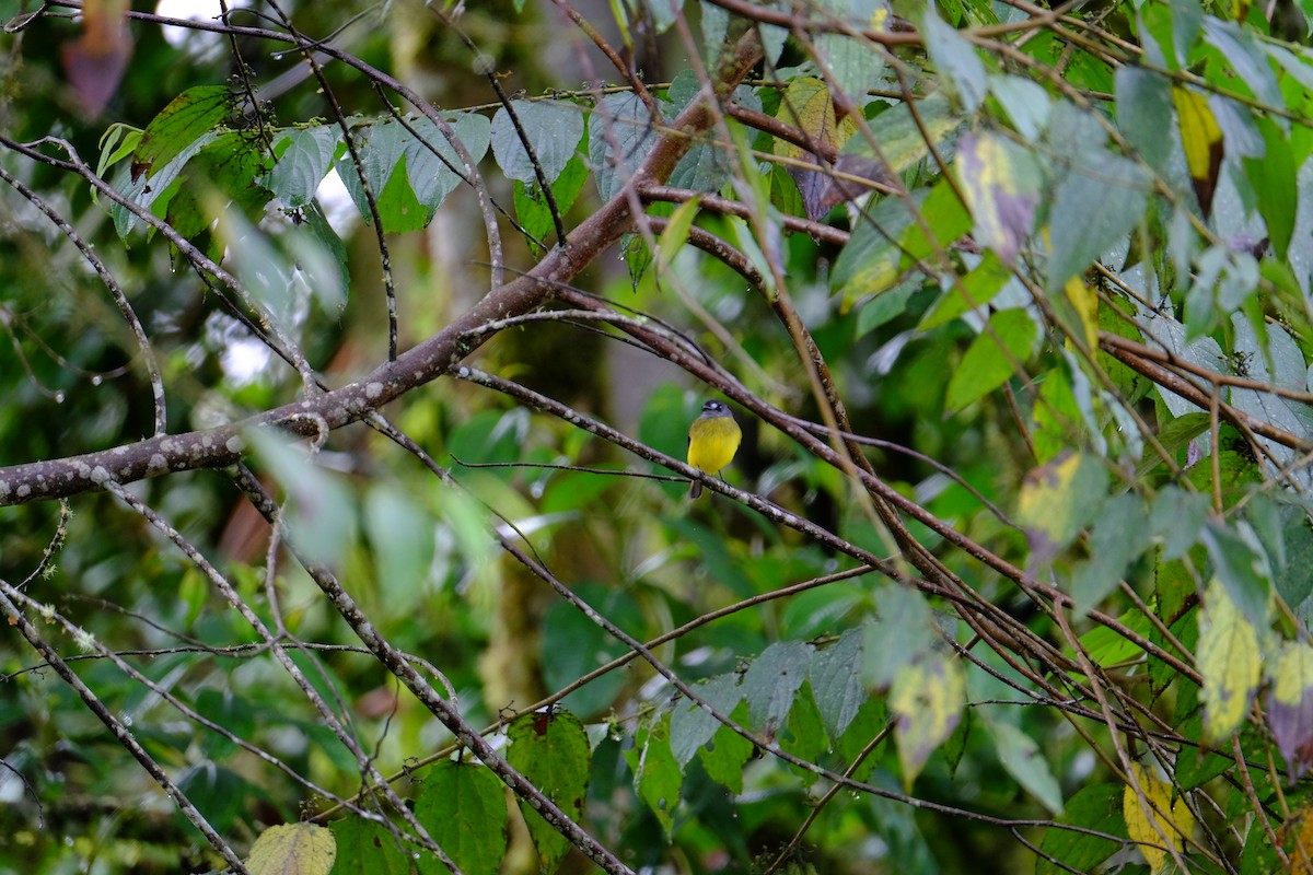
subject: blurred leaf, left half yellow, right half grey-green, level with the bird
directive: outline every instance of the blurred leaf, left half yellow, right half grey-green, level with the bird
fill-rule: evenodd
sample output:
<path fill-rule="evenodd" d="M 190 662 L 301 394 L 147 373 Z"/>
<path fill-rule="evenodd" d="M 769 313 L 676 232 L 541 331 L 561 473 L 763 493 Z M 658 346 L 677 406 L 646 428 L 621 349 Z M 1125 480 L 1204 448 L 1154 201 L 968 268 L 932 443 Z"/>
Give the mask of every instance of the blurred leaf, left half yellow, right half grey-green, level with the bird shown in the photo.
<path fill-rule="evenodd" d="M 1016 521 L 1025 529 L 1032 561 L 1049 561 L 1071 543 L 1099 513 L 1107 488 L 1103 462 L 1078 453 L 1060 455 L 1027 474 Z"/>

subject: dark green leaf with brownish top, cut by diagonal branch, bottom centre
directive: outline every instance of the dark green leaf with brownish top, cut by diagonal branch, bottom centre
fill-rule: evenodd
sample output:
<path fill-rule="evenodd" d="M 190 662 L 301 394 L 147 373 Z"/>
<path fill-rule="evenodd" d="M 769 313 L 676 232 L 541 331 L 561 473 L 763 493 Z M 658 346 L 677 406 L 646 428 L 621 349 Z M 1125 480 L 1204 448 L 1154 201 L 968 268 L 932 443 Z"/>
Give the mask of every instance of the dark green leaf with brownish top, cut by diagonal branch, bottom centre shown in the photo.
<path fill-rule="evenodd" d="M 579 719 L 567 711 L 555 710 L 529 714 L 512 723 L 507 736 L 511 739 L 507 750 L 511 765 L 571 820 L 579 823 L 588 796 L 591 761 L 588 736 Z M 668 743 L 666 750 L 668 756 Z M 570 841 L 550 826 L 529 803 L 521 800 L 520 811 L 533 845 L 538 849 L 540 867 L 553 871 L 569 853 Z"/>

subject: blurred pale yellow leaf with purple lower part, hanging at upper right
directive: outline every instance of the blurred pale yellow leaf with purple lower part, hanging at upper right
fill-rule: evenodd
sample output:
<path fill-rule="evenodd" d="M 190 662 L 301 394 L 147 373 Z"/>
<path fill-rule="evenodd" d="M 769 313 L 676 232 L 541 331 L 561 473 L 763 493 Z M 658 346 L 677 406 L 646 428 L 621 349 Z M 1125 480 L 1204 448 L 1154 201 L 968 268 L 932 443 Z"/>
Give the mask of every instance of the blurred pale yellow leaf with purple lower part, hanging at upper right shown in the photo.
<path fill-rule="evenodd" d="M 976 219 L 976 241 L 1014 264 L 1044 184 L 1035 153 L 989 131 L 968 134 L 957 146 L 957 174 Z"/>

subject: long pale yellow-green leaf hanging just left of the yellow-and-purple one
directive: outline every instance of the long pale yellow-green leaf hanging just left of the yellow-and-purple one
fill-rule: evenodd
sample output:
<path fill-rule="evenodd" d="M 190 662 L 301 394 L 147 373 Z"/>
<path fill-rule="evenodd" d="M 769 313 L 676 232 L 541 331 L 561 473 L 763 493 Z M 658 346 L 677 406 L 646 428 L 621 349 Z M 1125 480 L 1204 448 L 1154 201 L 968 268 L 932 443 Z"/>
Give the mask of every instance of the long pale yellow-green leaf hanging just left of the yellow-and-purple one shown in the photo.
<path fill-rule="evenodd" d="M 1254 624 L 1216 577 L 1199 614 L 1197 656 L 1204 678 L 1204 729 L 1216 741 L 1239 728 L 1263 668 Z"/>

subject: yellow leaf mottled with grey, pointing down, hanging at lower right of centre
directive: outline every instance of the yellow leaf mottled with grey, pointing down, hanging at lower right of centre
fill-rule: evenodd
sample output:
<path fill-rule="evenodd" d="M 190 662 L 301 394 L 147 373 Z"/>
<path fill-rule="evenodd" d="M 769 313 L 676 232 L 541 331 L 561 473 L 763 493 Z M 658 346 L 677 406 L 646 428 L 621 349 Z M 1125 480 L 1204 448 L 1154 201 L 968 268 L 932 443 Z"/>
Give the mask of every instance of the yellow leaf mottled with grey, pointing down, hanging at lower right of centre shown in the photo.
<path fill-rule="evenodd" d="M 897 723 L 898 762 L 903 787 L 911 790 L 926 760 L 957 728 L 966 704 L 966 678 L 956 657 L 928 651 L 905 665 L 889 691 Z"/>

